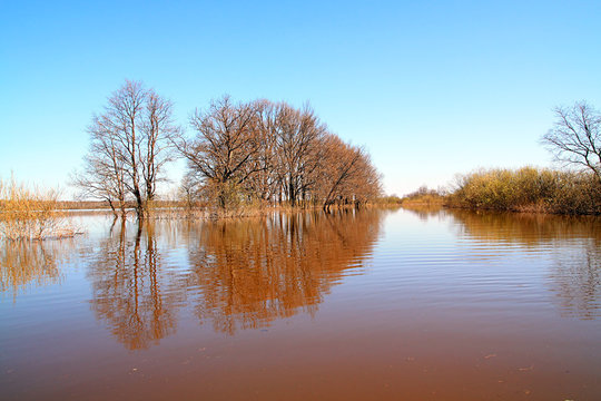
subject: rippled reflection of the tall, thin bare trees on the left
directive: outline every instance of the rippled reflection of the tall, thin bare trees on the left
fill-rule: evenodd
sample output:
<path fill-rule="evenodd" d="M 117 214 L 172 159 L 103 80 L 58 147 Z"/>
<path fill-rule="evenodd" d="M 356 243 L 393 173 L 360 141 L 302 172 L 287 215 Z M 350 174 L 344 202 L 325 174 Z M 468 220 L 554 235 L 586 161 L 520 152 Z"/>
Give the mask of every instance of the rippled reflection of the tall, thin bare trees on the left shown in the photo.
<path fill-rule="evenodd" d="M 154 223 L 112 226 L 91 261 L 91 307 L 121 343 L 146 349 L 175 333 L 185 280 L 161 268 Z"/>

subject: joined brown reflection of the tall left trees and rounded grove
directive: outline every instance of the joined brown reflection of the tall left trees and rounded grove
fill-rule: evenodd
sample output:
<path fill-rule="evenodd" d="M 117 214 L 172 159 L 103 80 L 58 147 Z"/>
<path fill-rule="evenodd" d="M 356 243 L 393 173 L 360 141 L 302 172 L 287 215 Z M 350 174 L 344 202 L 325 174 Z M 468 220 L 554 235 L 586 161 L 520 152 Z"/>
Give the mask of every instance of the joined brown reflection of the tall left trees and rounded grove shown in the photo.
<path fill-rule="evenodd" d="M 385 214 L 121 224 L 90 258 L 91 309 L 131 350 L 175 333 L 187 305 L 201 324 L 230 335 L 313 314 L 349 268 L 363 266 Z"/>

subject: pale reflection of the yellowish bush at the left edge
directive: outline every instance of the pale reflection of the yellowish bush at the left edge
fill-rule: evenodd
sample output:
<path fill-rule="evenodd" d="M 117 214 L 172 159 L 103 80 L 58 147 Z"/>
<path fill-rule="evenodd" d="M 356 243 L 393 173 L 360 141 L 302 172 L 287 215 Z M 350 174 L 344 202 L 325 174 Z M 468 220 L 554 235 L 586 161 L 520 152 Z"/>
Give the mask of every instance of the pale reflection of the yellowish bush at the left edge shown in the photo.
<path fill-rule="evenodd" d="M 11 292 L 16 300 L 30 285 L 59 283 L 60 264 L 73 247 L 72 239 L 0 242 L 0 292 Z"/>

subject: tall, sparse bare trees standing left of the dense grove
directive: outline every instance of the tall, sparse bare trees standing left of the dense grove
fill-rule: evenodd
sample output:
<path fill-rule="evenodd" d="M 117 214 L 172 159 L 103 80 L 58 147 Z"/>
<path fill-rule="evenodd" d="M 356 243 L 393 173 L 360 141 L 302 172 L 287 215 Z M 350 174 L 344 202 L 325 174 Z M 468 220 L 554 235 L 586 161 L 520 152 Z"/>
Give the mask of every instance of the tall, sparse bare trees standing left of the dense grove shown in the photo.
<path fill-rule="evenodd" d="M 83 196 L 105 199 L 125 216 L 132 198 L 138 217 L 144 217 L 156 196 L 160 173 L 173 156 L 171 102 L 141 82 L 126 81 L 109 99 L 90 126 L 90 150 L 83 169 L 72 183 Z"/>

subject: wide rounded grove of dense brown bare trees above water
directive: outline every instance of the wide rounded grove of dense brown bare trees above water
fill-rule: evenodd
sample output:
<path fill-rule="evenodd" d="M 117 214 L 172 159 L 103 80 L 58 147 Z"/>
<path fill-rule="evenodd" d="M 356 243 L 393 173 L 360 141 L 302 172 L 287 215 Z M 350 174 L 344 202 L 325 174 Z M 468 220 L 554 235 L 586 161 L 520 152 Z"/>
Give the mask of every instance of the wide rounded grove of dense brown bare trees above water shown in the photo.
<path fill-rule="evenodd" d="M 307 106 L 224 97 L 197 110 L 190 125 L 194 137 L 175 140 L 188 160 L 185 192 L 223 208 L 253 199 L 328 208 L 381 194 L 365 149 L 328 131 Z"/>

